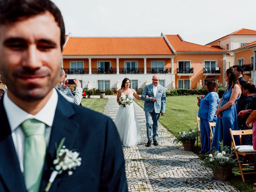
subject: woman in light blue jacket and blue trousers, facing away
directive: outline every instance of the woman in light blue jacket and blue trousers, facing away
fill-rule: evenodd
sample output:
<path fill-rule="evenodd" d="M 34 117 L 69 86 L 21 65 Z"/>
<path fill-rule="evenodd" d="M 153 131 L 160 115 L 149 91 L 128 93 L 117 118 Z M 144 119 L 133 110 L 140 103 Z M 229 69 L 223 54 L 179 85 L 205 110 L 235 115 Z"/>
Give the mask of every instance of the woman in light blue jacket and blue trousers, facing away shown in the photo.
<path fill-rule="evenodd" d="M 208 94 L 200 100 L 200 106 L 198 110 L 198 117 L 200 117 L 200 131 L 201 131 L 201 146 L 200 153 L 208 154 L 210 152 L 210 122 L 216 122 L 216 110 L 218 107 L 218 85 L 216 80 L 208 80 L 206 84 L 206 90 Z M 199 105 L 199 103 L 198 103 Z M 214 132 L 214 130 L 213 130 Z"/>

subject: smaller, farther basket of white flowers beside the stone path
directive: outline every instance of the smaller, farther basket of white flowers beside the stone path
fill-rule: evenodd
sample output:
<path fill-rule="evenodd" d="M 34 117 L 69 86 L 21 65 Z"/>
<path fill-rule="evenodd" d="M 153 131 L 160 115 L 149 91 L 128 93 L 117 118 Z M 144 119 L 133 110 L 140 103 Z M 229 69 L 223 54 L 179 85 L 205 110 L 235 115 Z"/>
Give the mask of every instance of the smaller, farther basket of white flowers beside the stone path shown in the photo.
<path fill-rule="evenodd" d="M 194 148 L 197 137 L 197 131 L 190 129 L 188 132 L 179 132 L 176 138 L 174 139 L 174 143 L 182 142 L 184 146 L 184 150 L 191 151 Z"/>

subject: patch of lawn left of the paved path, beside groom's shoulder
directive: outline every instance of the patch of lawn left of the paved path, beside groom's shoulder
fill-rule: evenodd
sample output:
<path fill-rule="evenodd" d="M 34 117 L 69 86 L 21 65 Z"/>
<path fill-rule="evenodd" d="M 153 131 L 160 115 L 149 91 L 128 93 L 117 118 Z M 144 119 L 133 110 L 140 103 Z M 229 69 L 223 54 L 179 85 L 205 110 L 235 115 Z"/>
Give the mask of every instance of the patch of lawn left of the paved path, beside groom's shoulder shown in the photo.
<path fill-rule="evenodd" d="M 108 99 L 83 98 L 81 101 L 81 104 L 84 107 L 103 113 L 107 102 L 108 102 Z"/>

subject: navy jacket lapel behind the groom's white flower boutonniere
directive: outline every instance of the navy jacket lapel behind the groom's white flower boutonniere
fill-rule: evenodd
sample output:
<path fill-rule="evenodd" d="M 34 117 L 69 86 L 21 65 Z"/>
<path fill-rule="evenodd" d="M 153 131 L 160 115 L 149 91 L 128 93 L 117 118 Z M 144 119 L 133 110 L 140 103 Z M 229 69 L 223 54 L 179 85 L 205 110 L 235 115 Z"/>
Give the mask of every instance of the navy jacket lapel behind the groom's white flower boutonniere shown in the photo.
<path fill-rule="evenodd" d="M 52 173 L 51 168 L 54 167 L 53 160 L 56 159 L 56 145 L 58 146 L 62 138 L 66 138 L 64 145 L 69 150 L 73 149 L 76 134 L 79 129 L 79 125 L 71 119 L 74 115 L 75 111 L 72 104 L 66 101 L 65 98 L 58 93 L 58 104 L 56 106 L 50 142 L 46 152 L 46 160 L 40 191 L 44 190 Z M 58 180 L 59 176 L 57 176 L 52 183 L 50 191 L 55 191 Z"/>

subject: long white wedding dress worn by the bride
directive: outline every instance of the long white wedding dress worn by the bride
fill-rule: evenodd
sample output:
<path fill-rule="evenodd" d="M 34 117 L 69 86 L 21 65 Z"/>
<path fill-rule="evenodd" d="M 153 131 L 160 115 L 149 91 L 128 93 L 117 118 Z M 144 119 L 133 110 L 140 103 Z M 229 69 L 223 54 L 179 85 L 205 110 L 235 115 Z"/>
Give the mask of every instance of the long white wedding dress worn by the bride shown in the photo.
<path fill-rule="evenodd" d="M 122 92 L 121 96 L 125 97 L 125 94 Z M 132 92 L 128 98 L 131 100 L 134 98 Z M 140 143 L 140 130 L 133 102 L 126 107 L 119 106 L 114 122 L 124 146 L 131 147 Z"/>

